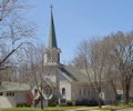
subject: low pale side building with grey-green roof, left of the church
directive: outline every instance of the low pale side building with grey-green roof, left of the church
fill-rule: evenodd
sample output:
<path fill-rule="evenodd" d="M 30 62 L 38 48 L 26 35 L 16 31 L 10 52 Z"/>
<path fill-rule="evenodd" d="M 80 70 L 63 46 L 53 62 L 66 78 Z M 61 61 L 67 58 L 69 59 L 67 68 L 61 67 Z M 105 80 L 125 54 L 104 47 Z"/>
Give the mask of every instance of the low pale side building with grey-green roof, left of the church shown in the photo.
<path fill-rule="evenodd" d="M 29 91 L 29 84 L 2 82 L 0 88 L 0 109 L 16 108 L 18 103 L 27 102 L 27 93 Z"/>

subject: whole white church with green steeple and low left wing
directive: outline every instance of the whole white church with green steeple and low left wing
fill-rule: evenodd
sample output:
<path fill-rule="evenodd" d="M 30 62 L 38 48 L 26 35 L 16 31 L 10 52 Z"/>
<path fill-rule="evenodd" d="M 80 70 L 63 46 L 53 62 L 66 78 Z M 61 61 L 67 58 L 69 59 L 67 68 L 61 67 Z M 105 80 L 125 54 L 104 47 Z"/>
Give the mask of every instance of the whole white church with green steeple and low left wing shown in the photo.
<path fill-rule="evenodd" d="M 38 83 L 41 83 L 40 81 L 42 80 L 43 83 L 47 84 L 43 91 L 43 100 L 52 102 L 54 100 L 65 99 L 66 101 L 72 101 L 73 104 L 81 103 L 82 101 L 98 101 L 96 94 L 89 85 L 86 74 L 80 69 L 61 64 L 60 53 L 61 49 L 57 43 L 53 16 L 51 11 L 48 47 L 44 49 L 44 74 L 42 78 L 40 78 L 39 73 L 37 73 Z M 28 85 L 23 85 L 24 90 L 17 90 L 17 88 L 14 88 L 11 91 L 0 91 L 0 108 L 4 108 L 3 104 L 7 103 L 3 103 L 2 99 L 9 102 L 7 108 L 14 108 L 19 102 L 27 102 L 25 92 L 28 91 L 31 91 L 32 94 L 35 95 L 34 107 L 40 105 L 40 94 L 37 89 L 34 78 L 29 81 Z M 12 92 L 13 94 L 9 97 L 6 94 L 8 92 Z M 114 101 L 113 90 L 103 90 L 102 100 Z"/>

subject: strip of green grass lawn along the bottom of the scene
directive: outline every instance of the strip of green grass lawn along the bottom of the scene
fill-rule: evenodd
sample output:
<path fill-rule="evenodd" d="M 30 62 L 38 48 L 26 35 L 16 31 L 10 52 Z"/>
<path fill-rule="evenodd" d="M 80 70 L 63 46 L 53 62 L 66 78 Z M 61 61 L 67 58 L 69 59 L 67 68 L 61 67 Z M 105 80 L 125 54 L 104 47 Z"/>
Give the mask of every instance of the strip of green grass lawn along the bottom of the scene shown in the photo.
<path fill-rule="evenodd" d="M 10 109 L 1 109 L 0 111 L 65 111 L 65 110 L 76 110 L 76 109 L 83 109 L 83 108 L 90 108 L 90 107 L 49 107 L 44 108 L 44 110 L 41 110 L 40 108 L 10 108 Z M 114 109 L 124 109 L 124 108 L 133 108 L 133 102 L 130 102 L 129 105 L 123 105 L 122 103 L 117 107 L 114 105 L 103 105 L 103 108 L 91 108 L 85 110 L 79 110 L 79 111 L 91 111 L 91 110 L 99 110 L 99 111 L 113 111 Z"/>

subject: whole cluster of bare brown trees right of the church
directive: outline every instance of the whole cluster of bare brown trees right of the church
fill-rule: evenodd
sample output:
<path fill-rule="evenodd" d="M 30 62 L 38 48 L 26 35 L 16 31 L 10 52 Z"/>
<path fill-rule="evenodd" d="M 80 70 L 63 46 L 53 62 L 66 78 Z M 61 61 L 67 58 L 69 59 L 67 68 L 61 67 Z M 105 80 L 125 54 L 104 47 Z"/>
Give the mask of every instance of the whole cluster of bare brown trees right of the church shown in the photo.
<path fill-rule="evenodd" d="M 102 39 L 82 41 L 72 64 L 85 70 L 89 83 L 98 93 L 99 107 L 101 107 L 101 90 L 109 82 L 113 83 L 116 94 L 117 77 L 123 88 L 124 103 L 127 104 L 133 75 L 133 31 L 127 33 L 119 31 Z"/>

